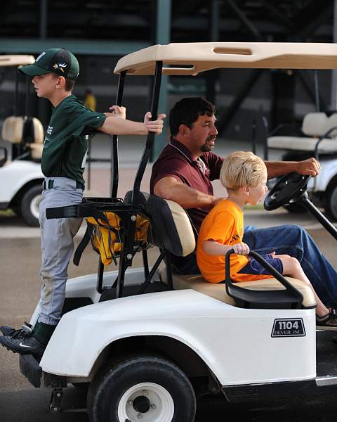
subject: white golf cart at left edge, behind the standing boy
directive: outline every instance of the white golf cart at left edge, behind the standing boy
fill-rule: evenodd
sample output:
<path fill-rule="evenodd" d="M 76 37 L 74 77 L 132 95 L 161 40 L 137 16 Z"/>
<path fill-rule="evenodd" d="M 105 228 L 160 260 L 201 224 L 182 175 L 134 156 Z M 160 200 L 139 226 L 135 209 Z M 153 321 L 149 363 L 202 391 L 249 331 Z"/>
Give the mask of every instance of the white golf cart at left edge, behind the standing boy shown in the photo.
<path fill-rule="evenodd" d="M 18 68 L 34 61 L 34 56 L 23 54 L 0 56 L 0 67 Z M 27 90 L 25 115 L 18 115 L 18 77 L 15 82 L 14 115 L 6 117 L 1 129 L 2 139 L 11 145 L 10 148 L 0 147 L 0 210 L 12 209 L 29 226 L 38 226 L 44 180 L 40 165 L 44 128 L 37 117 L 27 115 Z M 26 87 L 28 89 L 27 82 Z"/>

